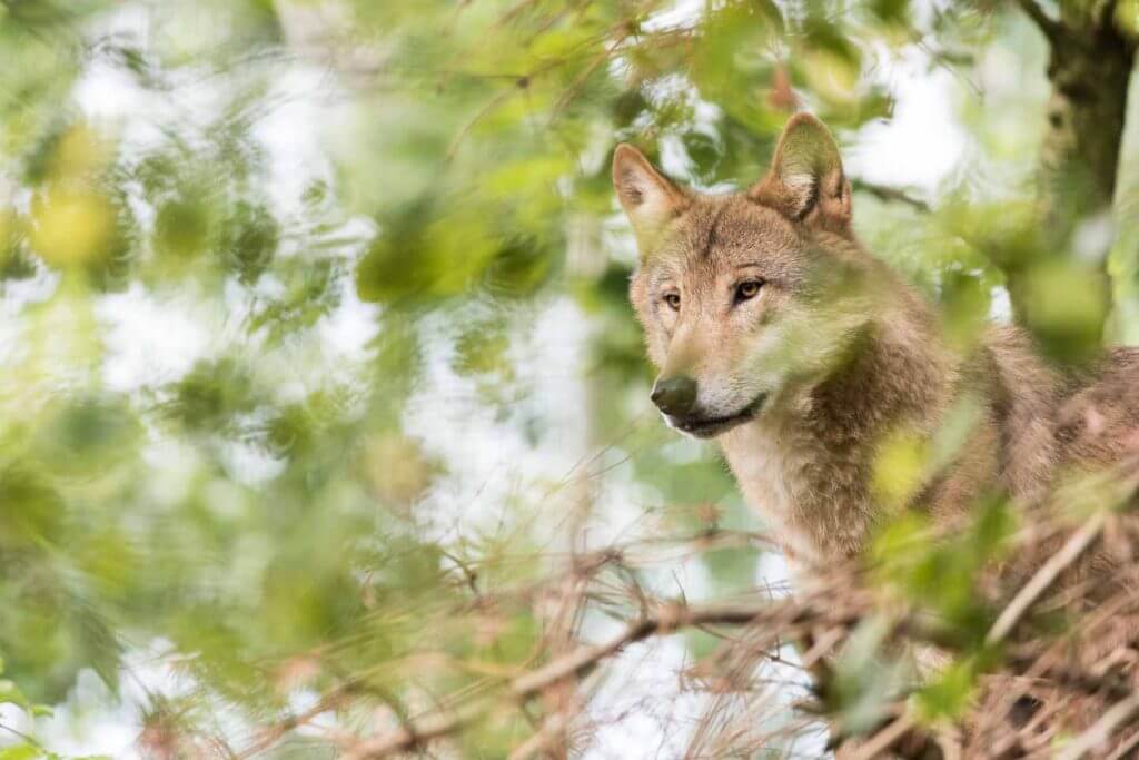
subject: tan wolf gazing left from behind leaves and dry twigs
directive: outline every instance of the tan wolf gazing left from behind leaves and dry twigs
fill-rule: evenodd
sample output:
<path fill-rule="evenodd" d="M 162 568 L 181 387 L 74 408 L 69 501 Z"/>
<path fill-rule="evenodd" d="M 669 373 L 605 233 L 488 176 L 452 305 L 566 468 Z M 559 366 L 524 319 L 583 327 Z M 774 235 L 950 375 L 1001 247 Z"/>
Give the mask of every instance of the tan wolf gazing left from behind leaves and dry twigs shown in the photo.
<path fill-rule="evenodd" d="M 630 299 L 659 369 L 652 401 L 720 444 L 797 573 L 858 556 L 902 509 L 951 524 L 986 495 L 1038 504 L 1062 473 L 1139 472 L 1139 350 L 1073 381 L 1015 327 L 950 340 L 859 243 L 814 116 L 788 121 L 744 193 L 681 187 L 625 144 L 613 182 L 639 248 Z M 928 448 L 962 417 L 943 461 L 884 485 L 886 452 Z"/>

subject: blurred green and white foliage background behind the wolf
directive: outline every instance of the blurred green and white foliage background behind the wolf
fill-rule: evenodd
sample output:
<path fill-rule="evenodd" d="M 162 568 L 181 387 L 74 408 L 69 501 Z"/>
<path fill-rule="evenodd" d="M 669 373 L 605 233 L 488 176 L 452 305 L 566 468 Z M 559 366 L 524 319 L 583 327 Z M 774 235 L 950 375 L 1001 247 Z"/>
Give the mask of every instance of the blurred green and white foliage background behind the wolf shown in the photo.
<path fill-rule="evenodd" d="M 500 698 L 787 591 L 648 402 L 612 150 L 730 191 L 809 109 L 952 334 L 1077 366 L 1139 342 L 1139 6 L 1063 5 L 0 2 L 0 758 L 821 757 L 722 630 Z"/>

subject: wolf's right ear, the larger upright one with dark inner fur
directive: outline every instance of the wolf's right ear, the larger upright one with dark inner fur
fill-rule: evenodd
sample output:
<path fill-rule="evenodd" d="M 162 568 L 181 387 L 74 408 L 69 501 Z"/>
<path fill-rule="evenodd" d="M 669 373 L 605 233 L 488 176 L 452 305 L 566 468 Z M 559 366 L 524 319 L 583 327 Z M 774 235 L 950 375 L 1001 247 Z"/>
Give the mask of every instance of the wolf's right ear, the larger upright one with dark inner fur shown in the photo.
<path fill-rule="evenodd" d="M 850 234 L 851 185 L 838 145 L 811 114 L 795 114 L 787 122 L 768 175 L 747 195 L 788 219 Z"/>

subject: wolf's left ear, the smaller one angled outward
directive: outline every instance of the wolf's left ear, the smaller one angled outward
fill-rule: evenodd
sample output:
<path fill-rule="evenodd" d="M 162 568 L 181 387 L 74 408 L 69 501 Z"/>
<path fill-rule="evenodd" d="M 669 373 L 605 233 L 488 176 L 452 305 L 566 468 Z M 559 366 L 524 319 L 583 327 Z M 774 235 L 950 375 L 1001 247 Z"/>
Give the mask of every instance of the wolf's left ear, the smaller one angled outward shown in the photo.
<path fill-rule="evenodd" d="M 637 232 L 641 255 L 670 219 L 688 207 L 683 190 L 658 172 L 637 148 L 622 142 L 613 153 L 613 187 Z"/>

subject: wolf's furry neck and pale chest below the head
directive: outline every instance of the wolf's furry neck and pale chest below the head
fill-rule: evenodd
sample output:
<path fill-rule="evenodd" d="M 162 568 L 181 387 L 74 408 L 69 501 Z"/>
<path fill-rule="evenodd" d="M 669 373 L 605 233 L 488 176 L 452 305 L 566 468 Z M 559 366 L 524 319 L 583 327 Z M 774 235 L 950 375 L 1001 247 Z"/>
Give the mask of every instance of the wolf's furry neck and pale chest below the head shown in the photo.
<path fill-rule="evenodd" d="M 882 517 L 872 468 L 883 436 L 927 434 L 950 401 L 956 362 L 924 313 L 867 326 L 851 360 L 722 439 L 740 489 L 797 564 L 858 553 Z"/>

